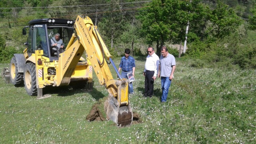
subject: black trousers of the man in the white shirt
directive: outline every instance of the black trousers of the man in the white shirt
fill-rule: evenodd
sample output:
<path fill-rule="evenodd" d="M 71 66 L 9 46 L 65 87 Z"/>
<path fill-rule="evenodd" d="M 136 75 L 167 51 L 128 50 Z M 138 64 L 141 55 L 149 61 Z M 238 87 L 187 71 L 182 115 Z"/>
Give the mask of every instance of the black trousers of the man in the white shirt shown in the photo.
<path fill-rule="evenodd" d="M 154 92 L 154 81 L 152 81 L 153 76 L 154 76 L 154 71 L 146 71 L 144 97 L 152 97 L 153 95 L 153 92 Z"/>

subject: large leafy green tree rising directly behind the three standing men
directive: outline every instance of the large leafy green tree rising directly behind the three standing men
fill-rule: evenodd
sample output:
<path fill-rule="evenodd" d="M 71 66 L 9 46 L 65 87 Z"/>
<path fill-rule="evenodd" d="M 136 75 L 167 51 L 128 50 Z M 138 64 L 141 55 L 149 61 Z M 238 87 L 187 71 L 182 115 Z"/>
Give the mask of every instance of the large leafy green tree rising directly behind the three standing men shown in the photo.
<path fill-rule="evenodd" d="M 149 44 L 157 43 L 157 54 L 160 54 L 164 42 L 185 39 L 187 23 L 193 21 L 195 15 L 189 0 L 153 0 L 138 16 L 142 23 L 141 34 Z"/>

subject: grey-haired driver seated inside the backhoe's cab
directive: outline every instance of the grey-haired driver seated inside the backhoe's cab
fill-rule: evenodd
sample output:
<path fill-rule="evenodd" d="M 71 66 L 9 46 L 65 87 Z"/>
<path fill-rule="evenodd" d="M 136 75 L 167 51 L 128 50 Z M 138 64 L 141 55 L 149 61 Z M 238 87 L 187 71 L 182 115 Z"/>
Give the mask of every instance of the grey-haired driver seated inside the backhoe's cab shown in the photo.
<path fill-rule="evenodd" d="M 62 39 L 60 38 L 60 34 L 56 33 L 54 37 L 51 38 L 51 43 L 52 43 L 52 49 L 54 51 L 57 51 L 57 49 L 59 50 L 59 53 L 64 52 L 64 43 L 62 41 Z"/>

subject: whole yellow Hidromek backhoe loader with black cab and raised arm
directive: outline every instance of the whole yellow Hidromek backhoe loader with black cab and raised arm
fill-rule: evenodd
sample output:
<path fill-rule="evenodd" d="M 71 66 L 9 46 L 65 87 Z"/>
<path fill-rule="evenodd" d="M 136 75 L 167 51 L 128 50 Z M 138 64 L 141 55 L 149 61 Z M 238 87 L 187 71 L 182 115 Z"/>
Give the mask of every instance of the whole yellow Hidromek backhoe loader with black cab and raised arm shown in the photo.
<path fill-rule="evenodd" d="M 107 118 L 118 127 L 132 123 L 132 109 L 128 99 L 129 80 L 121 78 L 111 55 L 102 40 L 97 26 L 88 16 L 77 16 L 76 20 L 38 19 L 23 28 L 23 35 L 29 29 L 27 46 L 23 54 L 14 54 L 10 68 L 4 68 L 2 75 L 6 83 L 24 85 L 28 95 L 44 98 L 43 88 L 48 85 L 75 84 L 92 90 L 92 71 L 109 93 L 104 103 Z M 54 47 L 58 33 L 65 51 L 60 53 Z M 59 40 L 60 40 L 59 39 Z M 57 42 L 58 43 L 58 42 Z M 82 54 L 86 52 L 86 59 Z M 109 61 L 109 62 L 108 62 Z M 112 64 L 119 79 L 113 79 L 108 64 Z"/>

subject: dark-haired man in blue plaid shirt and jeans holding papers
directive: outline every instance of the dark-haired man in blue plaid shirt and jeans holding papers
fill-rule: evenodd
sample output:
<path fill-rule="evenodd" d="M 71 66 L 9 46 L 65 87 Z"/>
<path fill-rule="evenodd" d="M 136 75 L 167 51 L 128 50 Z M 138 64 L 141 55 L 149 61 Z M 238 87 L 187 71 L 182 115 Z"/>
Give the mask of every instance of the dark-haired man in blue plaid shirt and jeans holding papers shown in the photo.
<path fill-rule="evenodd" d="M 122 69 L 121 76 L 122 78 L 127 78 L 127 73 L 132 73 L 132 76 L 134 77 L 135 72 L 135 60 L 132 56 L 130 56 L 130 49 L 125 49 L 125 56 L 122 57 L 121 62 L 119 64 L 118 72 Z M 129 83 L 129 94 L 133 94 L 133 85 L 132 82 Z"/>

